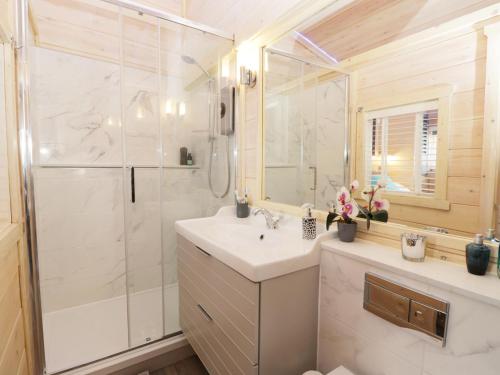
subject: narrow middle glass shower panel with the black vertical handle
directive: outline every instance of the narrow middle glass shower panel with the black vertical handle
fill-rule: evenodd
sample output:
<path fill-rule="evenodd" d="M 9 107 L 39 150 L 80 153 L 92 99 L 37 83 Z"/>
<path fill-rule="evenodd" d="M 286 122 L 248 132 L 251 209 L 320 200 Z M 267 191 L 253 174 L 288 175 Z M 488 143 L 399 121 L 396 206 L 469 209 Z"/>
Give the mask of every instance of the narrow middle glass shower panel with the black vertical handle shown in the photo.
<path fill-rule="evenodd" d="M 158 19 L 122 9 L 122 121 L 131 347 L 163 337 Z"/>

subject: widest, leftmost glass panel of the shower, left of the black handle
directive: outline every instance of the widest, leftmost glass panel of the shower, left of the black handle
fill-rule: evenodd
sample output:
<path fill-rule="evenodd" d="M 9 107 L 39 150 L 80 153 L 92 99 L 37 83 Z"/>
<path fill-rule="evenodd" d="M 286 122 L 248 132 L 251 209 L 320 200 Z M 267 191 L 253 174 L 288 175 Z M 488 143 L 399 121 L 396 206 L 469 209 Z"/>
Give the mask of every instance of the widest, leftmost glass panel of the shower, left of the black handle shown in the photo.
<path fill-rule="evenodd" d="M 106 25 L 109 35 L 119 35 L 118 7 L 61 3 L 61 12 L 72 15 L 74 9 L 81 12 L 75 16 L 79 22 L 92 19 Z M 92 53 L 73 53 L 78 45 L 69 42 L 61 50 L 40 45 L 28 50 L 48 373 L 129 347 L 120 55 L 117 38 L 97 39 L 97 33 L 79 38 L 87 46 L 99 40 L 99 51 Z"/>

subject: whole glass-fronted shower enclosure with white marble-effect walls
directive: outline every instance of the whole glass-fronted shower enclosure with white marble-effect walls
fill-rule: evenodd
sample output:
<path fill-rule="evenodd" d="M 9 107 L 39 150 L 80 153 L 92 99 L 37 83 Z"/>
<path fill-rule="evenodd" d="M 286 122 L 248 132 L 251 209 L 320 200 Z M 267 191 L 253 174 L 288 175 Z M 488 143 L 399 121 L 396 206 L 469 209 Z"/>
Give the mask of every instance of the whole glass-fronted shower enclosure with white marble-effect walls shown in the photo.
<path fill-rule="evenodd" d="M 32 18 L 53 9 L 67 22 L 46 19 L 26 47 L 24 167 L 50 374 L 179 333 L 174 223 L 231 204 L 235 68 L 231 37 L 175 16 L 32 3 Z M 59 33 L 57 48 L 44 33 Z"/>

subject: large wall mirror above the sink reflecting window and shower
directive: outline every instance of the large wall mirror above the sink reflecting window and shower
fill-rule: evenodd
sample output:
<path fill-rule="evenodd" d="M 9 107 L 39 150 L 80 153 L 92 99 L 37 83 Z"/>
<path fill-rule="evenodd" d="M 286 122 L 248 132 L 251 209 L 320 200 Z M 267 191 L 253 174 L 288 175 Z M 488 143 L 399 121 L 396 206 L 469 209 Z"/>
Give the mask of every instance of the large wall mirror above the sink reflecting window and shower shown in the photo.
<path fill-rule="evenodd" d="M 264 48 L 263 199 L 326 210 L 350 180 L 384 181 L 390 222 L 500 235 L 498 21 L 444 2 L 334 5 Z"/>

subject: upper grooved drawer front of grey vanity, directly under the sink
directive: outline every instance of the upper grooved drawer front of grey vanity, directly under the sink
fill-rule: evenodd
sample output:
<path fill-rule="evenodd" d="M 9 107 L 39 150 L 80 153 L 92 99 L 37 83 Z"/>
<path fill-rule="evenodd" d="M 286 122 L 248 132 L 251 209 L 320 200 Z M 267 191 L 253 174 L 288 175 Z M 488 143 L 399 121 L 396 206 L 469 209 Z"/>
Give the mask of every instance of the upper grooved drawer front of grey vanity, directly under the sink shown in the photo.
<path fill-rule="evenodd" d="M 228 343 L 256 365 L 259 284 L 241 276 L 181 236 L 178 245 L 179 285 L 206 309 Z"/>

